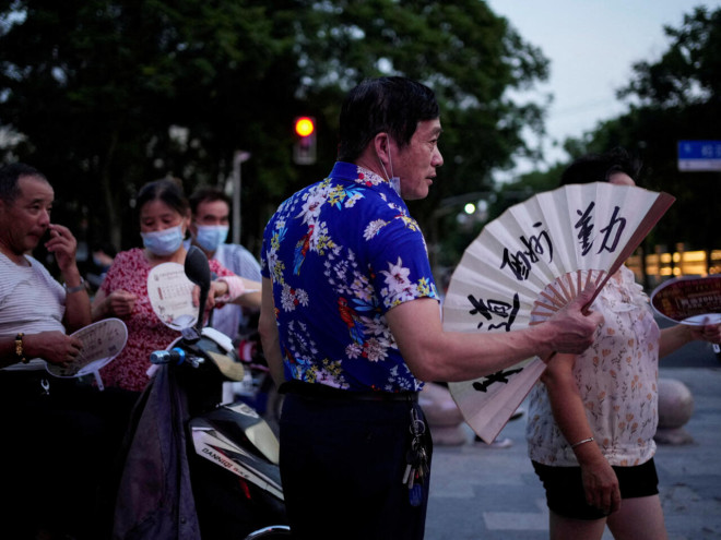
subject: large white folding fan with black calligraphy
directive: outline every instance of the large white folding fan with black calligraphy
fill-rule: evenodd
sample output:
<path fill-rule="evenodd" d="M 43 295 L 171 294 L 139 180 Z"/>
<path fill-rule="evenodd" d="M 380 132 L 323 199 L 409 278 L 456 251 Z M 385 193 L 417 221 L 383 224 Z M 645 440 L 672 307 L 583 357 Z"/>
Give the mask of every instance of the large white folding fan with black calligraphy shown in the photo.
<path fill-rule="evenodd" d="M 675 199 L 607 182 L 539 193 L 486 225 L 453 272 L 444 328 L 510 332 L 540 324 L 589 280 L 599 290 Z M 465 421 L 490 443 L 543 373 L 540 358 L 449 388 Z"/>

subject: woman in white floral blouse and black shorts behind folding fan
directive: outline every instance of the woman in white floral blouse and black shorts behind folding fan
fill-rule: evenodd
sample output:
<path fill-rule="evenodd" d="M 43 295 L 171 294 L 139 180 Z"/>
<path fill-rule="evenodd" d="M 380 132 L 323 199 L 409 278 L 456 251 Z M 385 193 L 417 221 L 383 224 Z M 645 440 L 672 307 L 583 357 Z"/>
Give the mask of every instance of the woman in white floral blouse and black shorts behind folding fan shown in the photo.
<path fill-rule="evenodd" d="M 578 159 L 562 184 L 635 185 L 639 165 L 623 149 Z M 648 297 L 625 266 L 591 307 L 594 344 L 557 355 L 530 396 L 527 440 L 546 490 L 552 539 L 666 538 L 653 465 L 658 360 L 689 343 L 721 340 L 721 325 L 660 331 Z"/>

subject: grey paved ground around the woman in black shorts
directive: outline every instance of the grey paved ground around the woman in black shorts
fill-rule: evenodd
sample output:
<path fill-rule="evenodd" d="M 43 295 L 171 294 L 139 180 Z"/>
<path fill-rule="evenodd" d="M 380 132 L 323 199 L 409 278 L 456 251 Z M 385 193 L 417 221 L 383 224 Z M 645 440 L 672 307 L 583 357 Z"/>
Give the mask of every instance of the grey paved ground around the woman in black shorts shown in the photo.
<path fill-rule="evenodd" d="M 694 396 L 685 430 L 694 442 L 659 446 L 655 461 L 670 540 L 721 539 L 721 364 L 661 368 Z M 718 365 L 718 367 L 717 367 Z M 525 452 L 525 417 L 500 437 L 515 444 L 492 449 L 469 441 L 434 453 L 427 540 L 544 540 L 547 511 L 541 482 Z M 606 531 L 604 539 L 611 539 Z"/>

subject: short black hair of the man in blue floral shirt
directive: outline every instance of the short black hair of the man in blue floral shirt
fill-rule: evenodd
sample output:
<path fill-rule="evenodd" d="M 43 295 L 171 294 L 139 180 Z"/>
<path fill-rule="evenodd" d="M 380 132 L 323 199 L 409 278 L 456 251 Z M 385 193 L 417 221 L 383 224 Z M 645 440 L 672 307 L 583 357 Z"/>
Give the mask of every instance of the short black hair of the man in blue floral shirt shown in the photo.
<path fill-rule="evenodd" d="M 338 158 L 354 161 L 381 132 L 402 148 L 411 143 L 418 122 L 438 116 L 436 96 L 424 84 L 401 76 L 366 80 L 343 101 Z"/>

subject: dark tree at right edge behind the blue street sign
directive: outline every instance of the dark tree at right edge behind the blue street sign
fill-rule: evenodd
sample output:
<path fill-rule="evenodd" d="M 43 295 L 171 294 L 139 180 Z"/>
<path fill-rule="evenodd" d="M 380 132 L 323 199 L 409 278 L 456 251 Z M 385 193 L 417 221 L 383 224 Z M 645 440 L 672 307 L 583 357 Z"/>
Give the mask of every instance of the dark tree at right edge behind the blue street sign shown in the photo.
<path fill-rule="evenodd" d="M 618 92 L 629 100 L 629 112 L 567 142 L 566 148 L 571 156 L 613 146 L 636 152 L 643 160 L 640 184 L 676 197 L 651 242 L 719 249 L 720 175 L 679 171 L 677 143 L 720 139 L 721 9 L 696 8 L 678 28 L 666 26 L 664 32 L 669 48 L 655 61 L 636 63 L 628 85 Z"/>

